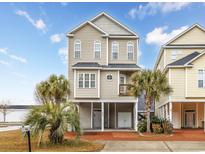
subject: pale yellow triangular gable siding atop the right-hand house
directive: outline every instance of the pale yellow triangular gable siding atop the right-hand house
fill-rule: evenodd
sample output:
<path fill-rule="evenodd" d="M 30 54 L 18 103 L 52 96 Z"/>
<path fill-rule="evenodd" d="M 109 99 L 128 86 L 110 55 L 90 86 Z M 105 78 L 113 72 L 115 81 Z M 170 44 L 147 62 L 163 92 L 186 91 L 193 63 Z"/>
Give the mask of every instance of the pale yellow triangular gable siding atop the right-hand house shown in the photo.
<path fill-rule="evenodd" d="M 170 44 L 205 44 L 205 32 L 195 27 Z"/>

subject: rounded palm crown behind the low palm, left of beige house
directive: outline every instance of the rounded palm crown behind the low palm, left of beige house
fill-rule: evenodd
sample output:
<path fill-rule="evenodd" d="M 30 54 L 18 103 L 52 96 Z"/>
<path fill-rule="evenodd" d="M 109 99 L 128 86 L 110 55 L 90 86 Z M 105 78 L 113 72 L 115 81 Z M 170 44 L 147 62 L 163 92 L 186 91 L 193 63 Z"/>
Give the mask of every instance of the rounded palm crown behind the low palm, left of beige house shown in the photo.
<path fill-rule="evenodd" d="M 69 94 L 69 82 L 63 75 L 51 75 L 37 84 L 35 90 L 35 96 L 40 103 L 60 103 L 67 100 Z"/>

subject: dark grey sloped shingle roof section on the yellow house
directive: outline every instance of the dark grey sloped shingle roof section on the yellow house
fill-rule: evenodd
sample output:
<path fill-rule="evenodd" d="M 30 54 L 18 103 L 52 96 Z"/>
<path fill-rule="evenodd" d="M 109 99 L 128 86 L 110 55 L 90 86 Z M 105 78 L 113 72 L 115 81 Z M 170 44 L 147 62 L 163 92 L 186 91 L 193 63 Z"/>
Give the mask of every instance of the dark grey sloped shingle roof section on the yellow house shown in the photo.
<path fill-rule="evenodd" d="M 196 56 L 198 56 L 200 53 L 199 52 L 194 52 L 191 53 L 173 63 L 168 64 L 167 66 L 183 66 L 186 63 L 188 63 L 189 61 L 191 61 L 192 59 L 194 59 Z"/>

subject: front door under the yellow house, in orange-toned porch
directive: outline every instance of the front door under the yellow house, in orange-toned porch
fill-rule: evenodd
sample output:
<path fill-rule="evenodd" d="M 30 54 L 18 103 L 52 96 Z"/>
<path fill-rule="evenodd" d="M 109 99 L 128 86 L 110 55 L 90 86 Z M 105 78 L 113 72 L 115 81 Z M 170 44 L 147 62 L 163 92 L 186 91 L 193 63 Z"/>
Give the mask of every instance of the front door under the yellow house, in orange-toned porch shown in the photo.
<path fill-rule="evenodd" d="M 195 127 L 195 111 L 185 111 L 185 127 Z"/>

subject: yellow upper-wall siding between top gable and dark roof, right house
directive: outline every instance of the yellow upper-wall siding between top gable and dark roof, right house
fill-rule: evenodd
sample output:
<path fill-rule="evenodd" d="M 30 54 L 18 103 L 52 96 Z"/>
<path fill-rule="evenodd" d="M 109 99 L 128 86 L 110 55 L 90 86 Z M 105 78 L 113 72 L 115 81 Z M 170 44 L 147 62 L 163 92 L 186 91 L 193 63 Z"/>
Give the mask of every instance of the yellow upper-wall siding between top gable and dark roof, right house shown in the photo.
<path fill-rule="evenodd" d="M 179 59 L 181 59 L 181 58 L 183 58 L 183 57 L 185 57 L 185 56 L 187 56 L 187 55 L 189 55 L 189 54 L 191 54 L 191 53 L 193 53 L 193 52 L 203 52 L 205 50 L 205 48 L 204 49 L 197 49 L 197 48 L 190 48 L 190 49 L 164 49 L 164 52 L 166 52 L 166 60 L 165 60 L 165 62 L 166 62 L 166 65 L 167 64 L 170 64 L 170 63 L 172 63 L 172 62 L 174 62 L 174 61 L 177 61 L 177 60 L 179 60 Z M 177 56 L 176 56 L 176 60 L 172 60 L 172 52 L 178 52 L 178 54 L 177 54 Z"/>

